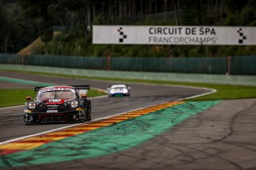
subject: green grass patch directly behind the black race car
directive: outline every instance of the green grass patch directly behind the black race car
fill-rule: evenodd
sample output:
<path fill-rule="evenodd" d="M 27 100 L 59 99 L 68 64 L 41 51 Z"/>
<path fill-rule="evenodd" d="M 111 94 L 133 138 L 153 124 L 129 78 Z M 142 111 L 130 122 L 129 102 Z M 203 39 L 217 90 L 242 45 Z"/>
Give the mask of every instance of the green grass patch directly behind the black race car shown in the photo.
<path fill-rule="evenodd" d="M 98 97 L 106 95 L 106 93 L 90 89 L 87 93 L 87 97 Z M 35 93 L 34 89 L 0 89 L 0 108 L 23 105 L 26 102 L 26 97 L 33 97 Z"/>

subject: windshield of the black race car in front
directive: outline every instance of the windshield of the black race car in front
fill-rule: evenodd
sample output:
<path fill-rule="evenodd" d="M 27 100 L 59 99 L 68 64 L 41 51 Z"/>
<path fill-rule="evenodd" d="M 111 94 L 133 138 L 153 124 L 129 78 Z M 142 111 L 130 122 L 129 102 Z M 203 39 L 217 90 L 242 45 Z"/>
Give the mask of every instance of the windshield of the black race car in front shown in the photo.
<path fill-rule="evenodd" d="M 42 92 L 39 93 L 36 99 L 38 101 L 45 101 L 47 99 L 69 99 L 69 100 L 74 100 L 75 93 L 71 91 L 48 91 L 48 92 Z"/>

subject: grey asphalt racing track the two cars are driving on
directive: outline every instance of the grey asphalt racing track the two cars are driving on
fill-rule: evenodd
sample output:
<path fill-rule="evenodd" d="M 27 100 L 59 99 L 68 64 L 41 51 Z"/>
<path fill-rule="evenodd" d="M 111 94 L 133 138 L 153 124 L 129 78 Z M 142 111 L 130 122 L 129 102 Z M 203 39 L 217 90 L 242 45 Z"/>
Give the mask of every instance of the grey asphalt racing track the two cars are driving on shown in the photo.
<path fill-rule="evenodd" d="M 26 73 L 11 73 L 0 71 L 2 77 L 12 77 L 30 81 L 39 81 L 53 83 L 57 85 L 90 85 L 92 88 L 107 89 L 109 85 L 117 83 L 111 81 L 91 81 L 82 79 L 72 79 L 63 77 L 44 77 L 30 75 Z M 140 85 L 129 84 L 131 88 L 130 97 L 103 97 L 92 99 L 92 119 L 108 117 L 117 113 L 127 112 L 133 109 L 139 109 L 149 105 L 157 105 L 165 101 L 174 101 L 183 97 L 190 97 L 200 93 L 209 92 L 206 89 L 191 89 L 184 87 L 166 86 L 166 85 Z M 3 82 L 2 88 L 34 88 L 28 85 L 19 85 Z M 24 97 L 24 101 L 26 97 Z M 0 109 L 0 125 L 1 136 L 0 142 L 11 140 L 20 136 L 31 135 L 37 132 L 44 132 L 53 128 L 60 128 L 69 124 L 55 124 L 55 125 L 22 125 L 23 106 Z M 15 131 L 14 131 L 15 129 Z"/>

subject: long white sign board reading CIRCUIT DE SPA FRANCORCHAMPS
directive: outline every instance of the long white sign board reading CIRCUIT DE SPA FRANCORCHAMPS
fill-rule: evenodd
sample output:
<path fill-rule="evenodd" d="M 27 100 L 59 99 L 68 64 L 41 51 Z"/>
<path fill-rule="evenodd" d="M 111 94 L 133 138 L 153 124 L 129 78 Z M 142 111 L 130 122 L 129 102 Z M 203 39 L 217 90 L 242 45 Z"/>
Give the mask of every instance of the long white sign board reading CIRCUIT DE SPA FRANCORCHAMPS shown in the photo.
<path fill-rule="evenodd" d="M 94 44 L 256 45 L 255 26 L 93 26 Z"/>

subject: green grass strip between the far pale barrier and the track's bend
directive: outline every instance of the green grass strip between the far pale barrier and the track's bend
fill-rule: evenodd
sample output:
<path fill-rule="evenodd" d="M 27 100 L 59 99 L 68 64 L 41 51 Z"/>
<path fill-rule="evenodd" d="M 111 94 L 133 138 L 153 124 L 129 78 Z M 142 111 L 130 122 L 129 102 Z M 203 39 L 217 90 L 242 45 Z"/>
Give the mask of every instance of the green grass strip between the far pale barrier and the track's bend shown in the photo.
<path fill-rule="evenodd" d="M 8 71 L 13 71 L 13 70 L 8 70 Z M 31 73 L 26 71 L 24 71 L 23 73 L 47 75 L 51 77 L 74 77 L 74 76 L 65 75 L 65 74 Z M 186 82 L 174 82 L 174 81 L 146 81 L 146 80 L 138 80 L 138 79 L 122 79 L 122 78 L 115 79 L 115 78 L 106 78 L 106 77 L 84 77 L 84 76 L 76 76 L 76 77 L 86 78 L 91 80 L 102 80 L 102 81 L 122 81 L 127 83 L 138 82 L 138 83 L 152 83 L 157 85 L 189 85 L 194 87 L 204 87 L 204 88 L 217 90 L 217 93 L 213 93 L 204 97 L 197 97 L 187 101 L 210 101 L 210 100 L 256 98 L 256 86 L 216 85 L 216 84 L 206 84 L 206 83 L 186 83 Z"/>

